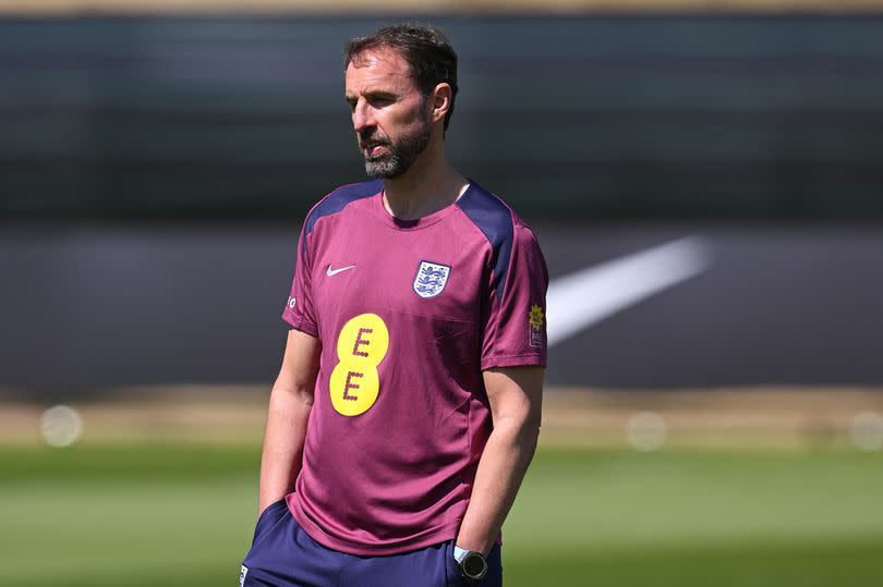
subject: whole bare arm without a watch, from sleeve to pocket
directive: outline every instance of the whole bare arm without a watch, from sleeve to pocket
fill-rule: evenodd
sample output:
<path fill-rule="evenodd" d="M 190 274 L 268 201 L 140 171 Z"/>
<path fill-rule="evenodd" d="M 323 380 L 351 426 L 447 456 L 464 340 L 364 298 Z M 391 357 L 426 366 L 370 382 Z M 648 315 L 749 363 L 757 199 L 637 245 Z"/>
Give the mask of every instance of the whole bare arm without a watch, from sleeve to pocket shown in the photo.
<path fill-rule="evenodd" d="M 299 330 L 289 331 L 282 367 L 273 386 L 267 411 L 258 514 L 294 490 L 320 353 L 322 343 L 317 338 Z"/>

